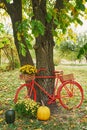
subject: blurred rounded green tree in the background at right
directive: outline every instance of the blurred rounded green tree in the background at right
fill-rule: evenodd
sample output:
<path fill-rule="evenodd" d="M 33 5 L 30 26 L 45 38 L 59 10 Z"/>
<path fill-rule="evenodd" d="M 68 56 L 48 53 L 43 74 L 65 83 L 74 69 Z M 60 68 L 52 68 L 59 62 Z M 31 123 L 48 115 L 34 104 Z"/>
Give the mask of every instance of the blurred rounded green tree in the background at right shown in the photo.
<path fill-rule="evenodd" d="M 66 36 L 60 41 L 60 45 L 57 47 L 61 58 L 65 58 L 70 61 L 79 60 L 79 62 L 85 58 L 87 61 L 87 34 L 72 35 L 73 39 Z"/>

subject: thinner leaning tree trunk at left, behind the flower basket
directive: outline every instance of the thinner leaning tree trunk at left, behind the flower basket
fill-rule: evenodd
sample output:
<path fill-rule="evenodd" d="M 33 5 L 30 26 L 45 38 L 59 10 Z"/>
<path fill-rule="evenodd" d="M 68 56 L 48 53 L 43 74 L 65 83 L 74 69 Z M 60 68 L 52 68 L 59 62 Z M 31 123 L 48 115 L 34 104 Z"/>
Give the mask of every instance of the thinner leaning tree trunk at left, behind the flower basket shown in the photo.
<path fill-rule="evenodd" d="M 33 65 L 33 60 L 32 60 L 31 54 L 28 50 L 24 36 L 23 35 L 21 36 L 21 40 L 22 40 L 21 42 L 25 45 L 26 56 L 23 56 L 20 53 L 20 42 L 17 38 L 17 32 L 18 32 L 17 27 L 22 22 L 22 2 L 21 2 L 21 0 L 14 0 L 13 4 L 5 3 L 5 5 L 7 7 L 7 12 L 10 15 L 11 20 L 12 20 L 14 41 L 15 41 L 15 46 L 17 48 L 20 64 L 21 64 L 21 66 L 24 64 Z"/>

